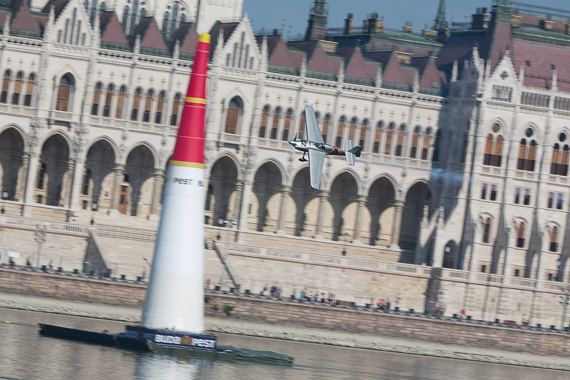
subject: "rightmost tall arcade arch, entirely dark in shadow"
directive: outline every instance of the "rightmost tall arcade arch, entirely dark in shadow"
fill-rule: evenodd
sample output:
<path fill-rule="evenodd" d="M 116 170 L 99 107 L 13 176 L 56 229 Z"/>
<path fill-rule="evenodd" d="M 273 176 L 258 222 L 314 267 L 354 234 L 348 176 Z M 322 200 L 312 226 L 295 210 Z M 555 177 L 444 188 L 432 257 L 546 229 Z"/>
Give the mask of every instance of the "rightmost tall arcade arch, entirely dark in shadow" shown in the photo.
<path fill-rule="evenodd" d="M 432 213 L 432 198 L 434 192 L 427 181 L 418 180 L 413 183 L 405 195 L 404 209 L 402 210 L 402 221 L 399 236 L 399 246 L 402 248 L 402 255 L 408 251 L 415 251 L 420 232 L 420 223 L 423 218 L 424 206 L 430 206 Z M 409 252 L 408 252 L 409 253 Z M 413 254 L 411 255 L 413 257 Z M 404 259 L 402 261 L 407 262 Z"/>

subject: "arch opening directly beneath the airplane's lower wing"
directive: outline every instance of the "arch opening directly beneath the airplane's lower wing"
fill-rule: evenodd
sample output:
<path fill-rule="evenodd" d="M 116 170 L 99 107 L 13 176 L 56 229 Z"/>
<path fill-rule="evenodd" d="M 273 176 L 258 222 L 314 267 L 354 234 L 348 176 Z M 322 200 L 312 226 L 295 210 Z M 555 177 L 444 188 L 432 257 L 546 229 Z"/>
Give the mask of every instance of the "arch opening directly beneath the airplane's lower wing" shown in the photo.
<path fill-rule="evenodd" d="M 309 167 L 302 166 L 293 176 L 291 198 L 295 204 L 292 213 L 288 210 L 286 220 L 294 225 L 295 236 L 315 236 L 319 213 L 319 191 L 311 187 Z"/>

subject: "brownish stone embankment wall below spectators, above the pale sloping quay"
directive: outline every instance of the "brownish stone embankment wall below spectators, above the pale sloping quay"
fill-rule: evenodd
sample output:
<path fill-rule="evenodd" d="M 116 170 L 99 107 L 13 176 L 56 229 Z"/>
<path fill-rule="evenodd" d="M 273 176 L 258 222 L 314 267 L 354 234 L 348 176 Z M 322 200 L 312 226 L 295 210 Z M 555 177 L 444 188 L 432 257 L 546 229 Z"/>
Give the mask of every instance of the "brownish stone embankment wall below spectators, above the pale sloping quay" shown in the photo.
<path fill-rule="evenodd" d="M 146 286 L 0 268 L 0 291 L 107 305 L 142 306 Z M 205 312 L 252 322 L 348 331 L 540 355 L 570 355 L 570 334 L 427 319 L 368 310 L 209 293 Z M 214 307 L 217 306 L 217 307 Z M 216 310 L 217 309 L 217 310 Z"/>

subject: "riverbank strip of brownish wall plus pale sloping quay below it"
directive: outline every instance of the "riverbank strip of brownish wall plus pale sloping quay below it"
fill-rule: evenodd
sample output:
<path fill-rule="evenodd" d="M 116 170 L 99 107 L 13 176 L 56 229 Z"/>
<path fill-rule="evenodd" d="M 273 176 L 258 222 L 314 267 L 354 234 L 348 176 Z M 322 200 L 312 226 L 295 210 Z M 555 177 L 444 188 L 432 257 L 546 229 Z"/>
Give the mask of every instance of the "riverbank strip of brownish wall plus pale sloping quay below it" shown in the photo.
<path fill-rule="evenodd" d="M 2 308 L 137 323 L 146 286 L 0 268 L 0 292 Z M 212 333 L 570 370 L 568 333 L 243 294 L 206 297 Z"/>

